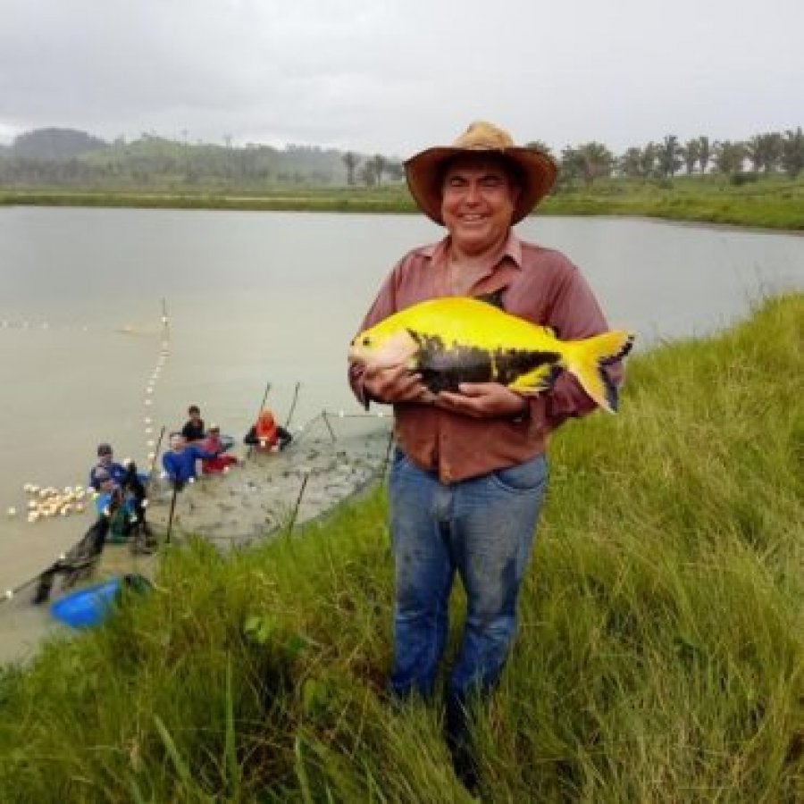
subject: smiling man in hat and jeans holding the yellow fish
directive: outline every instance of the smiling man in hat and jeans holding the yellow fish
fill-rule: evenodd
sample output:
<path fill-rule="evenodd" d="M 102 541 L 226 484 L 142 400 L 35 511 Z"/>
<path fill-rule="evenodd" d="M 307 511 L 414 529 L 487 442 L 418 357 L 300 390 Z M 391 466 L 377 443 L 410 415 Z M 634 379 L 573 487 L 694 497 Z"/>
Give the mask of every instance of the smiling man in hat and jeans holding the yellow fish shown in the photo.
<path fill-rule="evenodd" d="M 556 178 L 553 160 L 515 147 L 506 131 L 473 123 L 452 147 L 433 147 L 405 165 L 416 204 L 447 237 L 396 265 L 359 331 L 431 297 L 496 297 L 508 313 L 552 327 L 561 339 L 607 331 L 574 264 L 525 243 L 512 227 Z M 618 382 L 620 367 L 607 370 Z M 547 487 L 550 431 L 595 403 L 567 373 L 527 397 L 494 382 L 459 392 L 427 391 L 405 365 L 353 364 L 356 397 L 394 406 L 389 482 L 395 564 L 394 660 L 389 686 L 427 698 L 447 640 L 455 574 L 467 617 L 448 679 L 447 736 L 456 772 L 469 787 L 467 698 L 498 682 L 516 626 L 516 599 Z"/>

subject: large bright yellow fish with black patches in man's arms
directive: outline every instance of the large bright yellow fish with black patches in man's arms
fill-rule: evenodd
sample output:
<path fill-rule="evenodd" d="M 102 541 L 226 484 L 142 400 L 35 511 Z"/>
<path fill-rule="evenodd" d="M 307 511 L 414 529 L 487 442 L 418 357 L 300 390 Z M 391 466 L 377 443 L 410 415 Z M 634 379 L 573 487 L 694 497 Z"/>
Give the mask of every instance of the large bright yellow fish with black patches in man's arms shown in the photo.
<path fill-rule="evenodd" d="M 549 389 L 565 369 L 590 398 L 616 411 L 603 365 L 628 354 L 633 334 L 609 331 L 582 340 L 559 340 L 541 327 L 475 298 L 433 298 L 389 315 L 361 332 L 349 347 L 353 363 L 406 364 L 433 393 L 461 382 L 499 382 L 520 393 Z"/>

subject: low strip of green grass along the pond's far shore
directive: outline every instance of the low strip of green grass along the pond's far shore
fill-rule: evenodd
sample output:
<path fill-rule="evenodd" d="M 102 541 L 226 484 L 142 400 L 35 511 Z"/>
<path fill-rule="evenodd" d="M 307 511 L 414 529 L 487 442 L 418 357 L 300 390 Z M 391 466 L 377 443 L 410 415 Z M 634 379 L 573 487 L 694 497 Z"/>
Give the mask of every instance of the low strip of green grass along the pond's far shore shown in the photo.
<path fill-rule="evenodd" d="M 237 188 L 188 191 L 0 189 L 0 205 L 130 206 L 180 209 L 288 210 L 295 212 L 415 212 L 406 188 L 297 188 L 244 192 Z M 676 221 L 729 223 L 774 230 L 804 230 L 804 180 L 780 177 L 734 186 L 722 176 L 673 182 L 599 180 L 593 188 L 565 188 L 539 214 L 645 215 Z"/>

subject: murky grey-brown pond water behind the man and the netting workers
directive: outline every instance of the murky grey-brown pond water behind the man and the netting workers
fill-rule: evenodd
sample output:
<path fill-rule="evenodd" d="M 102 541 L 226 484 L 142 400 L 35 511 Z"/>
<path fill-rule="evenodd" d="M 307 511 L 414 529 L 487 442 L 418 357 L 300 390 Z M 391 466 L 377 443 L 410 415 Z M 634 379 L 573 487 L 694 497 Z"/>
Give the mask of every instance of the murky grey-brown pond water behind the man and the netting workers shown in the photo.
<path fill-rule="evenodd" d="M 86 482 L 98 441 L 144 464 L 189 403 L 240 437 L 267 381 L 282 419 L 301 383 L 294 426 L 356 412 L 348 339 L 391 264 L 440 231 L 412 215 L 0 209 L 0 594 L 89 522 L 27 523 L 23 483 Z M 538 217 L 518 231 L 580 265 L 641 348 L 804 287 L 791 235 Z M 163 300 L 170 356 L 154 380 Z"/>

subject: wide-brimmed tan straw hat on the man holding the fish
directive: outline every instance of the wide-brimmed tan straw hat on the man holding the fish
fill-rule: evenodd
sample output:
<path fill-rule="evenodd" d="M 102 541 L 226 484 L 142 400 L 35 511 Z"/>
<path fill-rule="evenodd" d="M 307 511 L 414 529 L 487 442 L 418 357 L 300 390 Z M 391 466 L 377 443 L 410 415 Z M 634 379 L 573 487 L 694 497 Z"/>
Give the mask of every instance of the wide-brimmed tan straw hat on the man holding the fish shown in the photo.
<path fill-rule="evenodd" d="M 514 145 L 511 135 L 490 122 L 473 122 L 451 146 L 427 148 L 405 163 L 407 186 L 419 209 L 436 223 L 441 217 L 441 181 L 448 159 L 461 154 L 490 151 L 507 159 L 522 177 L 522 190 L 514 207 L 513 223 L 520 222 L 545 197 L 558 172 L 549 155 L 535 148 Z"/>

